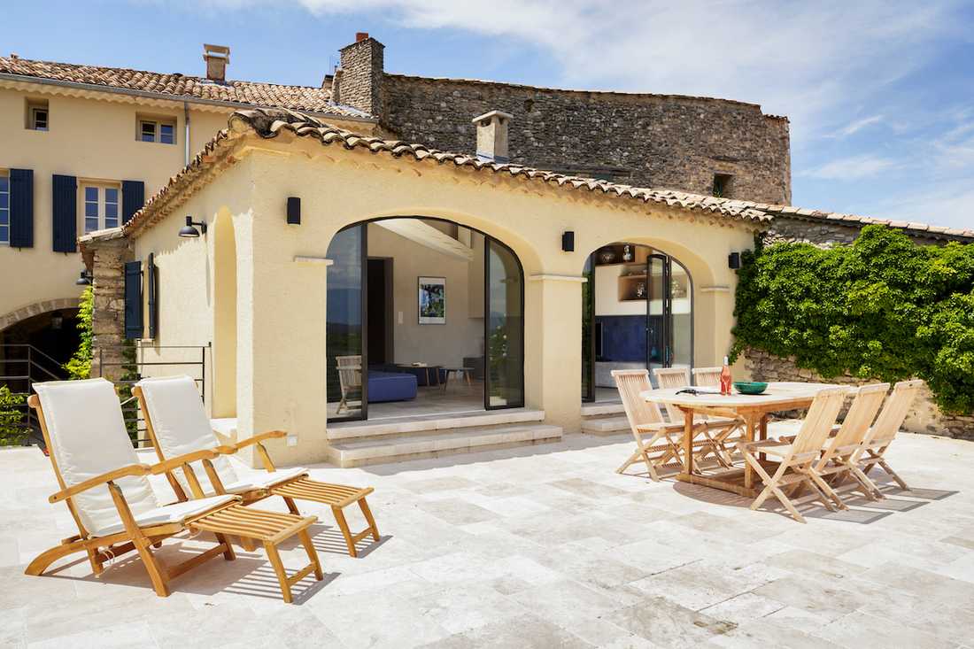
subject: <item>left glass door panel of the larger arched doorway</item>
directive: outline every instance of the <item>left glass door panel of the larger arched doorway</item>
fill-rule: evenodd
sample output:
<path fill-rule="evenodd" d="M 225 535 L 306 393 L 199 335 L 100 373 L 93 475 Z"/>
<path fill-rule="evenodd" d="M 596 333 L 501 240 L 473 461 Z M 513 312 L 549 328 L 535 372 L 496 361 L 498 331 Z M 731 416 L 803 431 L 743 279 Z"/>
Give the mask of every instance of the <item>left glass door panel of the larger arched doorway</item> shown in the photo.
<path fill-rule="evenodd" d="M 325 386 L 328 421 L 368 415 L 368 350 L 365 331 L 366 225 L 342 230 L 332 239 L 325 321 Z"/>

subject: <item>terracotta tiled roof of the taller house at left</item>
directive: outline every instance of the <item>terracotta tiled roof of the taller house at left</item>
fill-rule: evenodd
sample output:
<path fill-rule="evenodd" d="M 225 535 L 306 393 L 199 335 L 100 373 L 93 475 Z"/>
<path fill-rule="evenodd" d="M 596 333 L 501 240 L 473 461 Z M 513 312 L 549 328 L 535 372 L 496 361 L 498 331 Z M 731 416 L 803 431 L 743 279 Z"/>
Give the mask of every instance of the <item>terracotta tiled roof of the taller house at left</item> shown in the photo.
<path fill-rule="evenodd" d="M 19 57 L 0 57 L 0 73 L 165 95 L 167 98 L 186 97 L 254 106 L 283 106 L 336 116 L 368 117 L 355 108 L 333 104 L 330 88 L 281 86 L 253 81 L 215 83 L 206 78 L 179 73 L 147 72 Z"/>

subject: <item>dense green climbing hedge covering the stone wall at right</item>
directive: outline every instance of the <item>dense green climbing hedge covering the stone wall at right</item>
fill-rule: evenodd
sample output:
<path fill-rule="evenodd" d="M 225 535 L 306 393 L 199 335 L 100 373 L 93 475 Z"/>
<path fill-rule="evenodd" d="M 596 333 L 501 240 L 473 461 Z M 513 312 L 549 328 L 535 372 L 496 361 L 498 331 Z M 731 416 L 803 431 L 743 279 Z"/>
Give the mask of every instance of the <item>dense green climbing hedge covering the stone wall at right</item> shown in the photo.
<path fill-rule="evenodd" d="M 870 225 L 849 246 L 759 243 L 738 277 L 733 358 L 752 347 L 825 377 L 919 377 L 945 411 L 974 410 L 974 245 Z"/>

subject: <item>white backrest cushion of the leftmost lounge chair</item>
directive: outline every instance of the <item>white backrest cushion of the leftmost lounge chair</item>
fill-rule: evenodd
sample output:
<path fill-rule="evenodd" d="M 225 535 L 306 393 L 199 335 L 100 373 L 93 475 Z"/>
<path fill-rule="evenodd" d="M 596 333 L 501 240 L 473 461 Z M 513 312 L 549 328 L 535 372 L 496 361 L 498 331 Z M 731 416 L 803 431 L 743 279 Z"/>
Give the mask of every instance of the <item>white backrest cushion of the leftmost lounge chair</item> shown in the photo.
<path fill-rule="evenodd" d="M 51 439 L 49 451 L 67 486 L 73 486 L 140 464 L 122 417 L 115 387 L 103 378 L 83 381 L 35 383 Z M 160 507 L 145 476 L 115 480 L 125 495 L 132 515 Z M 121 523 L 107 485 L 98 485 L 72 497 L 81 523 L 90 533 Z"/>

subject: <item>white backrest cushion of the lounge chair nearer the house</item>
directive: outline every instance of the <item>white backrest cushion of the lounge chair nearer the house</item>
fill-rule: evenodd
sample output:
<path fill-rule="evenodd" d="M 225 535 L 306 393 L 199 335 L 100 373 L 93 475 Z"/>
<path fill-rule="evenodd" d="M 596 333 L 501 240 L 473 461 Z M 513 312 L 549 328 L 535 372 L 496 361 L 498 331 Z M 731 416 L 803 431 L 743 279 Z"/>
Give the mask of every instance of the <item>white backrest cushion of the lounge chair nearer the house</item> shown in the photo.
<path fill-rule="evenodd" d="M 146 415 L 152 422 L 152 431 L 166 458 L 220 445 L 220 440 L 210 428 L 203 400 L 196 388 L 196 381 L 192 378 L 189 376 L 145 378 L 136 385 L 142 390 L 146 409 L 148 409 Z M 226 457 L 220 456 L 211 462 L 224 486 L 241 481 Z M 210 484 L 203 462 L 194 462 L 190 466 L 200 480 L 203 492 L 215 493 L 216 489 Z M 192 496 L 193 492 L 189 488 L 184 471 L 176 469 L 172 474 L 179 481 L 186 495 Z"/>

